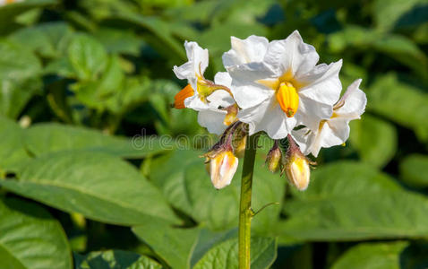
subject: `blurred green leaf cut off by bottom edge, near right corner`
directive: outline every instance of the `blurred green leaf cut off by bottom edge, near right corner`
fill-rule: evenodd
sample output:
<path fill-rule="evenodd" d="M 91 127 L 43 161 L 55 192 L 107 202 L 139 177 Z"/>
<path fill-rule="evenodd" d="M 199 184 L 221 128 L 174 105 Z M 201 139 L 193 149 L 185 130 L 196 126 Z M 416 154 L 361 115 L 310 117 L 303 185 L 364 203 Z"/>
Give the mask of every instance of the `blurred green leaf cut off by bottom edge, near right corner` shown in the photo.
<path fill-rule="evenodd" d="M 331 269 L 400 269 L 401 252 L 407 246 L 403 241 L 359 244 L 340 256 Z"/>

